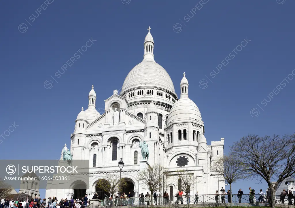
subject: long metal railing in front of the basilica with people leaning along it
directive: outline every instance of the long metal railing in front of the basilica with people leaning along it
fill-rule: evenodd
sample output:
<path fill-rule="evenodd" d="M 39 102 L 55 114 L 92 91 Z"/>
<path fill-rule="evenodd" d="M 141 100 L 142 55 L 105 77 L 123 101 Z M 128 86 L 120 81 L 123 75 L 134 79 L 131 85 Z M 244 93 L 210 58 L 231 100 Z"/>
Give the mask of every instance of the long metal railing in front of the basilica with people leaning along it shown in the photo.
<path fill-rule="evenodd" d="M 248 195 L 243 194 L 242 196 L 237 196 L 237 194 L 232 194 L 232 202 L 233 203 L 268 203 L 266 195 L 260 196 L 259 194 Z M 154 197 L 134 197 L 134 198 L 114 198 L 112 199 L 104 199 L 101 201 L 101 206 L 112 206 L 113 203 L 115 206 L 127 206 L 127 205 L 150 205 L 152 204 L 220 204 L 220 203 L 230 203 L 229 196 L 227 194 L 221 195 L 218 194 L 199 194 L 196 199 L 195 195 L 187 196 L 158 196 Z M 294 199 L 292 199 L 292 203 L 294 203 Z M 281 197 L 276 195 L 276 204 L 283 204 L 281 202 Z M 285 197 L 284 204 L 288 204 L 288 197 Z M 88 207 L 88 206 L 87 206 Z"/>

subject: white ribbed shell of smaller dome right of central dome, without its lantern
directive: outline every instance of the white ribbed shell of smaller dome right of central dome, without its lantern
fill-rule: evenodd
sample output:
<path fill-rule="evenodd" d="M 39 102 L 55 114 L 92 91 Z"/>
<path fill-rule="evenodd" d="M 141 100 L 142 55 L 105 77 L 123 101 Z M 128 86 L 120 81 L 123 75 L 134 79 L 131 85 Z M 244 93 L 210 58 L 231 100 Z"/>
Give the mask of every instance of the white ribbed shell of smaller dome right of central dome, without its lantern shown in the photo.
<path fill-rule="evenodd" d="M 189 118 L 191 118 L 192 121 L 197 121 L 200 124 L 202 123 L 201 113 L 194 101 L 188 97 L 181 97 L 172 106 L 168 115 L 167 123 L 173 121 L 174 119 L 176 122 L 189 121 Z"/>

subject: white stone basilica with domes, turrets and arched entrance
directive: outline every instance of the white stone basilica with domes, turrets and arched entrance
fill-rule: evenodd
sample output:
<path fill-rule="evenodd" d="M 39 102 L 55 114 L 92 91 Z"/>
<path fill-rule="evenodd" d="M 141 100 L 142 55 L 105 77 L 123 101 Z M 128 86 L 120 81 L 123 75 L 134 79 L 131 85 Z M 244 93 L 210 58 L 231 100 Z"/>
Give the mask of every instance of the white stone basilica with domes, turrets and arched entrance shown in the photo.
<path fill-rule="evenodd" d="M 81 197 L 91 199 L 94 192 L 102 198 L 104 192 L 96 187 L 106 174 L 120 175 L 118 162 L 123 158 L 122 178 L 128 181 L 126 193 L 138 196 L 142 188 L 137 173 L 146 166 L 160 163 L 171 177 L 159 187 L 175 195 L 180 188 L 172 179 L 179 169 L 194 175 L 191 195 L 214 194 L 224 180 L 212 171 L 212 164 L 223 155 L 224 138 L 207 145 L 204 122 L 199 108 L 189 99 L 189 82 L 185 73 L 180 82 L 180 98 L 165 69 L 154 60 L 154 40 L 149 32 L 144 40 L 144 56 L 127 75 L 122 91 L 105 100 L 105 113 L 97 112 L 94 86 L 89 93 L 88 109 L 78 114 L 75 130 L 71 134 L 71 153 L 74 160 L 89 160 L 90 182 L 73 181 L 70 189 L 46 189 L 46 197 Z M 182 72 L 181 72 L 182 73 Z M 140 142 L 148 144 L 149 158 L 142 158 Z M 75 189 L 76 184 L 85 189 Z M 89 188 L 86 189 L 86 183 Z M 108 196 L 109 194 L 106 193 Z"/>

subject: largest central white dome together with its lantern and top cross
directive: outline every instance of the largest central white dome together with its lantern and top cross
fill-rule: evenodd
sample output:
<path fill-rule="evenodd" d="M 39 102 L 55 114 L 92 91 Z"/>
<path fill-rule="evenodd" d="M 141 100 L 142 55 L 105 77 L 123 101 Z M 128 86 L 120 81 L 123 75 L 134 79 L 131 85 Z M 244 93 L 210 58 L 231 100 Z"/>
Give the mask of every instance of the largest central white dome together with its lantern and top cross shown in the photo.
<path fill-rule="evenodd" d="M 142 62 L 137 64 L 125 78 L 121 94 L 138 87 L 154 87 L 169 91 L 177 97 L 169 74 L 154 60 L 154 40 L 150 31 L 145 37 L 144 52 Z"/>

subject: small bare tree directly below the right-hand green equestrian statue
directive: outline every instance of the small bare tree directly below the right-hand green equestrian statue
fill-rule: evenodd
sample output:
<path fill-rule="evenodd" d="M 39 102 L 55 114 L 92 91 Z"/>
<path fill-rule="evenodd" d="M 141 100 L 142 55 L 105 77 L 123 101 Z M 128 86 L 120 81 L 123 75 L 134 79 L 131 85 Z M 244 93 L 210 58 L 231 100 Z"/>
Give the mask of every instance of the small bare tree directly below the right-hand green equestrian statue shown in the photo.
<path fill-rule="evenodd" d="M 148 166 L 138 173 L 140 184 L 150 191 L 150 197 L 153 206 L 153 192 L 162 183 L 164 175 L 164 168 L 160 164 Z"/>

